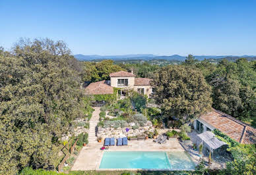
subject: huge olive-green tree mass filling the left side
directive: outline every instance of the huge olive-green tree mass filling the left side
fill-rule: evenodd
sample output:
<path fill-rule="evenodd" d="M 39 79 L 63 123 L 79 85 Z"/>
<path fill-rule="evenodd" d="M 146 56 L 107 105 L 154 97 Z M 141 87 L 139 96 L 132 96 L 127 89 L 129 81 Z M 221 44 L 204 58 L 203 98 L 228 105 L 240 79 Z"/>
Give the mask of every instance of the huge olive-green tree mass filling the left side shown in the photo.
<path fill-rule="evenodd" d="M 55 165 L 55 137 L 84 116 L 80 67 L 63 41 L 21 39 L 0 56 L 0 174 Z"/>

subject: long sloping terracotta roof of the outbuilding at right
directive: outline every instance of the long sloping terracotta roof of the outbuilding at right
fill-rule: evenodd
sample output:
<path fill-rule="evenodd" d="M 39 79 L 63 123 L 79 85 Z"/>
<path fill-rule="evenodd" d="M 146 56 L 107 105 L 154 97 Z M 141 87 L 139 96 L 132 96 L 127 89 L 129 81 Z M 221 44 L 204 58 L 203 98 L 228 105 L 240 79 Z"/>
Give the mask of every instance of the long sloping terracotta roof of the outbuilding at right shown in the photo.
<path fill-rule="evenodd" d="M 256 129 L 225 114 L 213 109 L 211 112 L 199 117 L 214 128 L 220 130 L 232 139 L 245 144 L 256 143 Z M 246 128 L 245 128 L 246 127 Z M 243 136 L 243 132 L 245 135 Z"/>

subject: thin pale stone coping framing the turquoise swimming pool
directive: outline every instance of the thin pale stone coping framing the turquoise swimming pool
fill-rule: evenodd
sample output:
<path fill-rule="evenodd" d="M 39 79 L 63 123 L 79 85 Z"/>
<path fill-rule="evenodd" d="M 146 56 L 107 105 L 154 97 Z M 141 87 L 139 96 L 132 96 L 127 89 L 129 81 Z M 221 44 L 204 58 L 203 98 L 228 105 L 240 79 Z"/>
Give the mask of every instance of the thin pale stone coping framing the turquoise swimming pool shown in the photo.
<path fill-rule="evenodd" d="M 100 155 L 100 161 L 97 162 L 96 170 L 97 171 L 122 171 L 122 170 L 148 170 L 148 171 L 195 171 L 195 169 L 156 169 L 156 168 L 100 168 L 100 163 L 102 162 L 102 157 L 105 152 L 187 152 L 187 151 L 113 151 L 113 150 L 104 150 L 102 151 L 102 154 Z M 189 155 L 189 159 L 191 159 Z M 170 159 L 168 158 L 168 161 L 170 163 Z M 195 164 L 195 162 L 191 159 L 191 161 Z"/>

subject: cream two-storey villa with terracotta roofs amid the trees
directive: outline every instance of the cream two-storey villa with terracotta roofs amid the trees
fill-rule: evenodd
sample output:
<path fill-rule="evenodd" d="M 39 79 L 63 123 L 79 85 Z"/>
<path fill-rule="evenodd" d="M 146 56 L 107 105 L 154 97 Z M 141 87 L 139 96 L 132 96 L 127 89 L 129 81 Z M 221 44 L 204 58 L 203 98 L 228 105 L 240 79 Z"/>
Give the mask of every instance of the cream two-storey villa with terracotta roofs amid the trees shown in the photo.
<path fill-rule="evenodd" d="M 113 72 L 110 74 L 110 80 L 94 82 L 89 84 L 86 88 L 86 94 L 112 94 L 113 88 L 119 88 L 118 93 L 121 96 L 127 95 L 129 90 L 137 91 L 143 95 L 152 94 L 152 86 L 149 78 L 135 78 L 132 72 Z"/>

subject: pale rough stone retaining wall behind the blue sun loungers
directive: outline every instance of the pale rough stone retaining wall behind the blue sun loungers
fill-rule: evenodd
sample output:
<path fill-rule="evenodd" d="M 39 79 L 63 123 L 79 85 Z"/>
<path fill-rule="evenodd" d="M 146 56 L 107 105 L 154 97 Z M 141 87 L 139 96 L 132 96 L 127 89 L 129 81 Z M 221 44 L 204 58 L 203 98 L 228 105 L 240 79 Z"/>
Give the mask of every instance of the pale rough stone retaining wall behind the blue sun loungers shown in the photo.
<path fill-rule="evenodd" d="M 102 137 L 105 139 L 106 137 L 135 137 L 142 136 L 145 132 L 153 132 L 154 127 L 152 126 L 152 122 L 146 122 L 146 126 L 141 126 L 138 129 L 133 130 L 133 126 L 135 123 L 130 123 L 128 127 L 125 128 L 98 128 L 97 137 Z M 126 128 L 129 128 L 129 132 L 126 132 Z"/>

